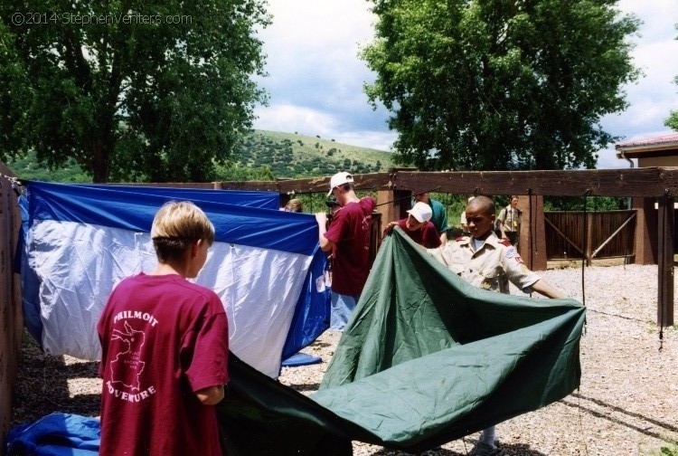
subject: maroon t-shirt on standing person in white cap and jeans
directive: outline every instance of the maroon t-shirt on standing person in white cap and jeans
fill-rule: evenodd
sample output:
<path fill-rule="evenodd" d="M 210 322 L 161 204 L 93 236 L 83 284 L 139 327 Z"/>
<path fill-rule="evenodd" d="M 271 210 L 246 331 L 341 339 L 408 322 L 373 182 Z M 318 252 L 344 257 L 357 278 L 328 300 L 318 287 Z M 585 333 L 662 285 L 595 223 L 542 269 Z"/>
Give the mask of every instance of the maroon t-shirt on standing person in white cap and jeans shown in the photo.
<path fill-rule="evenodd" d="M 376 201 L 372 196 L 349 203 L 332 218 L 325 238 L 334 242 L 332 290 L 359 296 L 370 274 L 370 225 Z"/>

